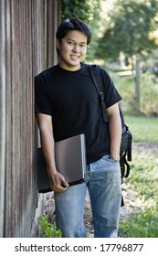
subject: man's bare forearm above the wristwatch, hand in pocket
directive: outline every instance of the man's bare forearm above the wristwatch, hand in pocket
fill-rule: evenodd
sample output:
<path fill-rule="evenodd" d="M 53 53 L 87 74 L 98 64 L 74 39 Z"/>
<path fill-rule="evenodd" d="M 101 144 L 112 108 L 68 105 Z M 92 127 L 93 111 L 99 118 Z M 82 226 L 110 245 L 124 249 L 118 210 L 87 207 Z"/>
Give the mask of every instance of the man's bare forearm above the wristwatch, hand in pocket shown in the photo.
<path fill-rule="evenodd" d="M 109 127 L 110 127 L 110 137 L 111 137 L 111 156 L 120 155 L 121 147 L 121 117 L 119 111 L 118 103 L 112 105 L 107 109 L 109 116 Z"/>

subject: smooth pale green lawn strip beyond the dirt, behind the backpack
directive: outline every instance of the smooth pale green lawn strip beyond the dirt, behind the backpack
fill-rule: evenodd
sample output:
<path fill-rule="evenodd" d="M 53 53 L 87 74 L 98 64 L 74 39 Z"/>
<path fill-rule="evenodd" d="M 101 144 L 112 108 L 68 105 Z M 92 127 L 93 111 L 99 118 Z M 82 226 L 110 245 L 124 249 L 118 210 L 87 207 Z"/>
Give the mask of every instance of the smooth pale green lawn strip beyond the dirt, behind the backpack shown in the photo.
<path fill-rule="evenodd" d="M 158 118 L 125 116 L 134 142 L 158 143 Z"/>

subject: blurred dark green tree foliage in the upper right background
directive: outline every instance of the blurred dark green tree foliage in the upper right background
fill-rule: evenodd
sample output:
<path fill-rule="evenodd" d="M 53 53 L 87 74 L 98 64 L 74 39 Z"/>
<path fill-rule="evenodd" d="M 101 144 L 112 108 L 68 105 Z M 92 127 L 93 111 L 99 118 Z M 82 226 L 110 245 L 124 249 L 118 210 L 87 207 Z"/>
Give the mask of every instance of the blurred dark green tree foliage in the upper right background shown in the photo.
<path fill-rule="evenodd" d="M 120 52 L 143 55 L 156 47 L 150 35 L 158 25 L 157 0 L 118 0 L 108 20 L 97 51 L 100 58 L 117 58 Z"/>

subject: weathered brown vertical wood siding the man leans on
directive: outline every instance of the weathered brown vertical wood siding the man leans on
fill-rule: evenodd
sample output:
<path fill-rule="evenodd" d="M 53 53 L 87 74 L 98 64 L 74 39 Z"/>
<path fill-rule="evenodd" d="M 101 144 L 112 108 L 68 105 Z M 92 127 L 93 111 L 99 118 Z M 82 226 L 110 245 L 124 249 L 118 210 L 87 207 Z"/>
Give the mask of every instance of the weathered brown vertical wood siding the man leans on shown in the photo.
<path fill-rule="evenodd" d="M 58 0 L 0 1 L 0 237 L 29 237 L 37 208 L 34 77 L 56 62 Z"/>

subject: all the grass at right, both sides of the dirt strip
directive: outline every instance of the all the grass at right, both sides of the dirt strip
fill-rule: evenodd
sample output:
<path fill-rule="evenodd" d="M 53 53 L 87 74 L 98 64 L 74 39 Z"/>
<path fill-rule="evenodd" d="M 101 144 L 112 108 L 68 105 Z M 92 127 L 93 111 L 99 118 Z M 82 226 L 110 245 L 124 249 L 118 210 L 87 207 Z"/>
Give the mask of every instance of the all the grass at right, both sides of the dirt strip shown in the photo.
<path fill-rule="evenodd" d="M 134 142 L 158 143 L 156 118 L 125 117 L 125 122 L 133 133 Z M 158 155 L 139 152 L 139 149 L 132 152 L 131 175 L 126 183 L 127 192 L 131 189 L 139 204 L 130 219 L 121 220 L 119 236 L 158 238 Z"/>

